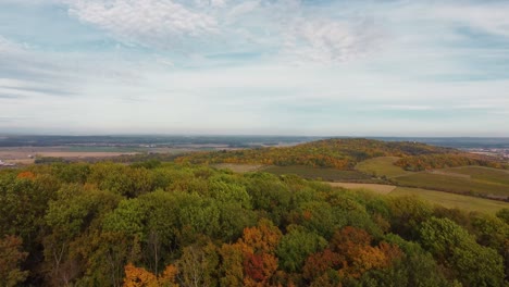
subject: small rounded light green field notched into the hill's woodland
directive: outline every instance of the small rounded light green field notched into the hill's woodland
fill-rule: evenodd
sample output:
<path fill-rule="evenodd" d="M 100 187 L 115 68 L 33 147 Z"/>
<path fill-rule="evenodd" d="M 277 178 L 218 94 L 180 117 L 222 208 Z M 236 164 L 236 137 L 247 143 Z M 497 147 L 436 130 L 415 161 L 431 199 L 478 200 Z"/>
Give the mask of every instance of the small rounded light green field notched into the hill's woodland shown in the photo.
<path fill-rule="evenodd" d="M 411 172 L 394 165 L 399 160 L 397 157 L 380 157 L 362 161 L 356 165 L 356 170 L 374 175 L 386 176 L 388 178 L 410 174 Z"/>

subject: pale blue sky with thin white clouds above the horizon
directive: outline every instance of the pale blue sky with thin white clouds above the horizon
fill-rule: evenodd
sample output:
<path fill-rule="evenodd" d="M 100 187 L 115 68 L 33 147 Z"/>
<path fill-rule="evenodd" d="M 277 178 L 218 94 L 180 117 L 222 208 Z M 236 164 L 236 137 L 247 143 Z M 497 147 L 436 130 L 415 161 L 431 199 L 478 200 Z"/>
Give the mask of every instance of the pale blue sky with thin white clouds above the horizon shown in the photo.
<path fill-rule="evenodd" d="M 509 1 L 0 0 L 0 134 L 509 137 Z"/>

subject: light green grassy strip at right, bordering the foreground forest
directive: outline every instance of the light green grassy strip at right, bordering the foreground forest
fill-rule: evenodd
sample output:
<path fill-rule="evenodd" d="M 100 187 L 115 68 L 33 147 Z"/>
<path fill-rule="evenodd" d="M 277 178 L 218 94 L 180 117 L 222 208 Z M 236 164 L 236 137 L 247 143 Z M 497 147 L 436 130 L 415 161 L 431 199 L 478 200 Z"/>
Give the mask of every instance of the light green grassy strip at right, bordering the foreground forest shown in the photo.
<path fill-rule="evenodd" d="M 467 211 L 477 211 L 495 214 L 502 208 L 509 208 L 508 202 L 455 195 L 443 191 L 427 190 L 422 188 L 397 187 L 389 196 L 414 195 L 432 203 L 445 208 L 457 208 Z"/>

